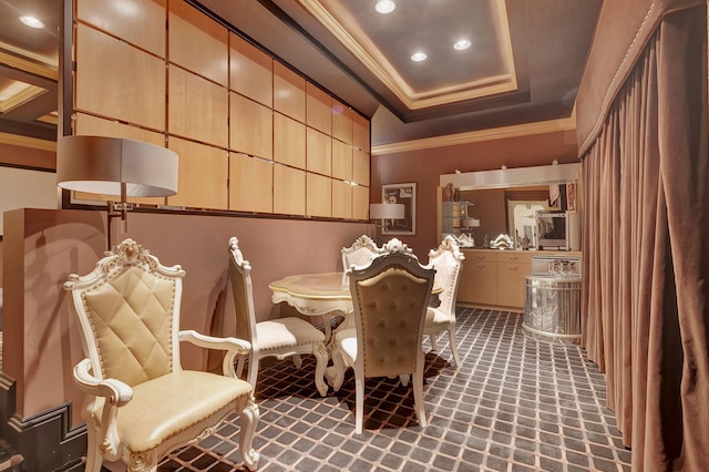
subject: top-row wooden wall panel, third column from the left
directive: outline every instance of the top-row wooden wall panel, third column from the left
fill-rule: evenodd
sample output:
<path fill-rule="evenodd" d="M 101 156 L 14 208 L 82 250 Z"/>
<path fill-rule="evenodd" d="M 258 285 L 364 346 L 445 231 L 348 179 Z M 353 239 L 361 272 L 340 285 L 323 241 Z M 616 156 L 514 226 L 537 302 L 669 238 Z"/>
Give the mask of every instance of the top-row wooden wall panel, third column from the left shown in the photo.
<path fill-rule="evenodd" d="M 274 106 L 274 60 L 229 33 L 229 88 L 268 107 Z"/>

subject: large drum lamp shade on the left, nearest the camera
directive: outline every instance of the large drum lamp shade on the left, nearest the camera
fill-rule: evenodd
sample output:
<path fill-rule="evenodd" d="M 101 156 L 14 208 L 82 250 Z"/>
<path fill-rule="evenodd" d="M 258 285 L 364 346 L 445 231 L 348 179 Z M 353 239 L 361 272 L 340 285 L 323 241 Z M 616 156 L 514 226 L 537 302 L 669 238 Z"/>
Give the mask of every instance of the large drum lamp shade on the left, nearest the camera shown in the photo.
<path fill-rule="evenodd" d="M 56 184 L 101 195 L 177 193 L 177 154 L 150 143 L 104 136 L 63 136 L 56 143 Z"/>

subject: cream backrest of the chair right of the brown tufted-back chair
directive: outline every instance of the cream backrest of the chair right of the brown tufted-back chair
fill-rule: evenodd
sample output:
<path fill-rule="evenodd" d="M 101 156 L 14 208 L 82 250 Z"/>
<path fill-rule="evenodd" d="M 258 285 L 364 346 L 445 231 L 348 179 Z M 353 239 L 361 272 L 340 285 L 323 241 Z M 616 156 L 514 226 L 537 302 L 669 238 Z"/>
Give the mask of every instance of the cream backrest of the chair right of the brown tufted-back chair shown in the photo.
<path fill-rule="evenodd" d="M 445 236 L 441 245 L 429 253 L 429 266 L 435 268 L 434 286 L 443 289 L 439 294 L 439 309 L 454 315 L 458 286 L 465 256 L 458 247 L 453 236 Z"/>

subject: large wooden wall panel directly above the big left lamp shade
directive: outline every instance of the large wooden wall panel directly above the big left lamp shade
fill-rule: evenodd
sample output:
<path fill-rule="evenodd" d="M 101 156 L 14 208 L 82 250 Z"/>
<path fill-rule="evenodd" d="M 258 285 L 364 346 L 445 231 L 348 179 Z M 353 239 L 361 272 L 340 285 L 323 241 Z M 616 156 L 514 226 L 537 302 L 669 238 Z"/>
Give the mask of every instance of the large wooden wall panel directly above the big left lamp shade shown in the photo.
<path fill-rule="evenodd" d="M 163 59 L 81 23 L 75 44 L 75 111 L 165 130 Z"/>

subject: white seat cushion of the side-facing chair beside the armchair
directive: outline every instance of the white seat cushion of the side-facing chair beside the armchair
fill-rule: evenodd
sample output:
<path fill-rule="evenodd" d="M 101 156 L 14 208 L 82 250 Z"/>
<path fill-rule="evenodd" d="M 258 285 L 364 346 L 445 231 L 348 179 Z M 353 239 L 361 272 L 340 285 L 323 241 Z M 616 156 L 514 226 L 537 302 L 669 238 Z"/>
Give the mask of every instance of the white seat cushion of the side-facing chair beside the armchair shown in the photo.
<path fill-rule="evenodd" d="M 257 322 L 256 339 L 259 349 L 278 349 L 323 342 L 325 334 L 304 319 L 287 317 Z"/>

